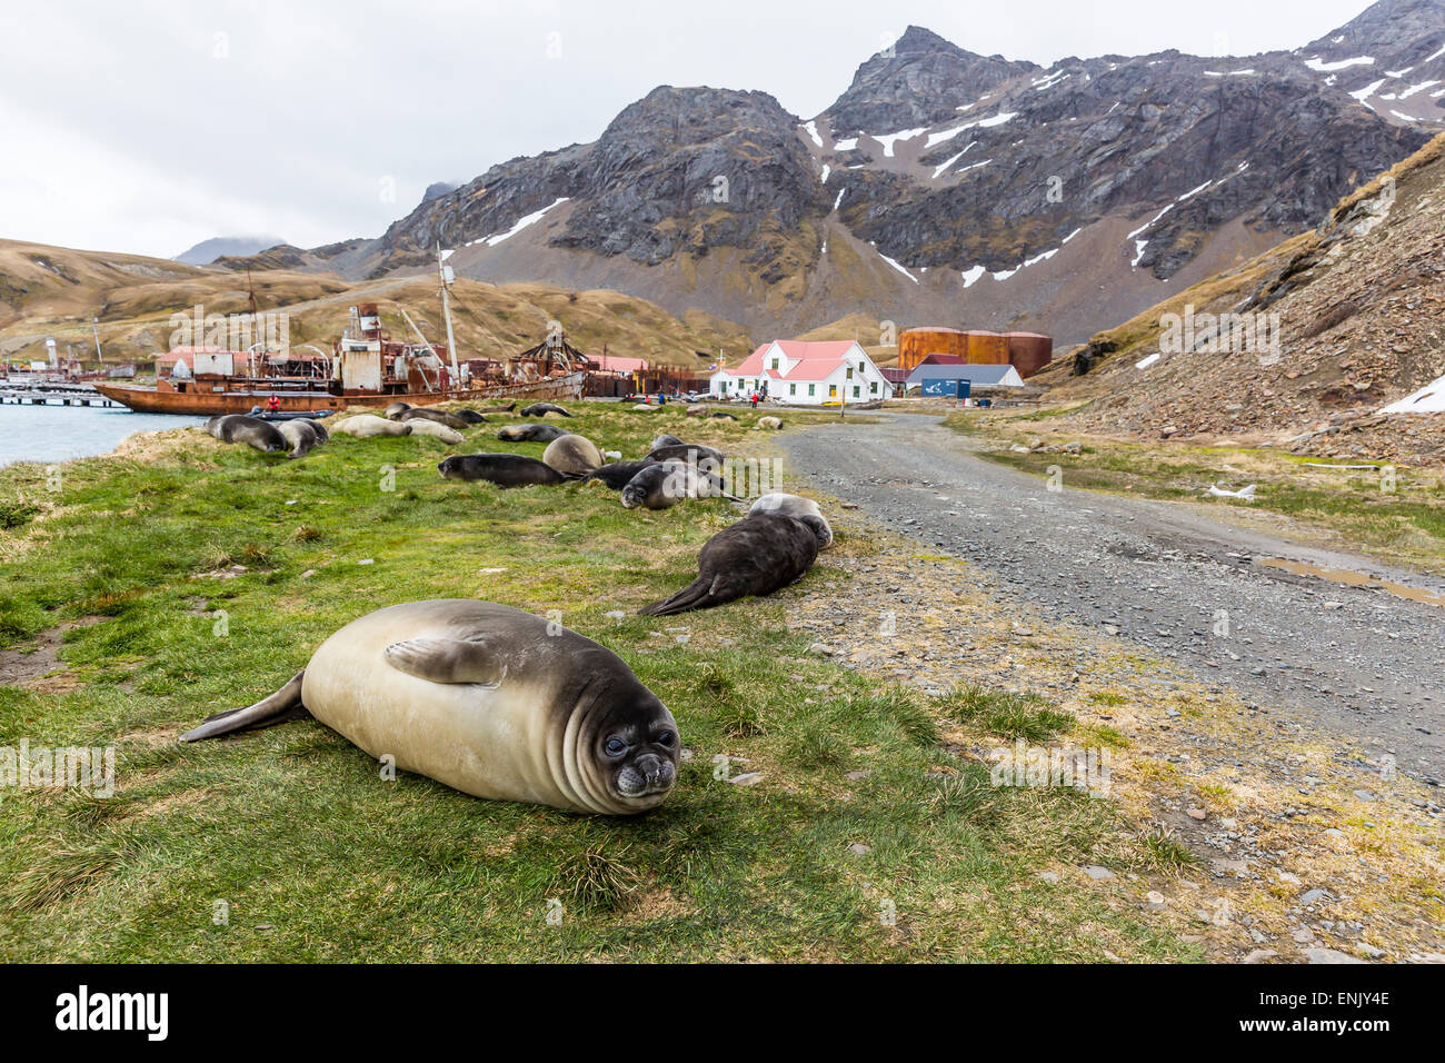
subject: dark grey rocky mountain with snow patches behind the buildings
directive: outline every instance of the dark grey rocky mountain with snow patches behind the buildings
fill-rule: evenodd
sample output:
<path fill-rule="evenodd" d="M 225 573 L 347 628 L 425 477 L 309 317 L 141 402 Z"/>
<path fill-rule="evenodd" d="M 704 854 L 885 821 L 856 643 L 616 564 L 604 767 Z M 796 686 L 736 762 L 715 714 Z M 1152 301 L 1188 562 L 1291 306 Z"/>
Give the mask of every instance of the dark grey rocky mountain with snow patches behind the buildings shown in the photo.
<path fill-rule="evenodd" d="M 1315 224 L 1445 127 L 1445 0 L 1381 0 L 1293 52 L 1068 58 L 909 27 L 822 114 L 662 87 L 590 145 L 512 159 L 316 268 L 607 286 L 790 334 L 1081 341 Z M 1370 78 L 1366 81 L 1366 78 Z"/>

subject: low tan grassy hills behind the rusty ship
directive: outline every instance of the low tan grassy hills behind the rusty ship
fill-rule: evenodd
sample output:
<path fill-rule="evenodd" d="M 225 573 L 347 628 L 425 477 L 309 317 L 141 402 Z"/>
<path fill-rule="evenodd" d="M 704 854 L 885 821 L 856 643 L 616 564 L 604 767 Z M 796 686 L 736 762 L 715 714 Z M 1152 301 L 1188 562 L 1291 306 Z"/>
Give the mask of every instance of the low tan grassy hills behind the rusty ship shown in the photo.
<path fill-rule="evenodd" d="M 363 301 L 380 305 L 384 327 L 396 338 L 413 336 L 403 308 L 429 340 L 447 338 L 436 282 L 429 276 L 347 282 L 332 273 L 272 269 L 254 270 L 251 282 L 262 311 L 289 315 L 292 346 L 309 343 L 329 351 L 348 308 Z M 14 362 L 42 359 L 46 337 L 56 340 L 62 354 L 72 343 L 78 354 L 92 356 L 91 318 L 98 317 L 107 360 L 136 360 L 144 367 L 171 347 L 171 315 L 189 314 L 197 304 L 207 314 L 247 312 L 246 273 L 0 242 L 0 354 Z M 452 317 L 462 356 L 514 354 L 539 343 L 553 320 L 590 354 L 605 347 L 611 354 L 688 369 L 707 366 L 720 347 L 751 346 L 747 330 L 701 311 L 678 320 L 646 299 L 546 283 L 460 279 Z"/>

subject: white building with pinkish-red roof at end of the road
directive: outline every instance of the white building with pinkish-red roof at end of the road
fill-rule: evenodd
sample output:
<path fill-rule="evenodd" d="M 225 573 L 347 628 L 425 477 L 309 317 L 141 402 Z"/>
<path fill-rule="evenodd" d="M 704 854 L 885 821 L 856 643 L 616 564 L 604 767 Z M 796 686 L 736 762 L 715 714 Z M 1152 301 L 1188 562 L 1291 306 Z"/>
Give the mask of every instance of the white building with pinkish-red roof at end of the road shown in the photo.
<path fill-rule="evenodd" d="M 750 398 L 766 393 L 776 402 L 801 406 L 837 406 L 893 398 L 889 383 L 868 353 L 851 340 L 806 343 L 773 340 L 754 350 L 737 367 L 724 367 L 708 379 L 715 398 Z"/>

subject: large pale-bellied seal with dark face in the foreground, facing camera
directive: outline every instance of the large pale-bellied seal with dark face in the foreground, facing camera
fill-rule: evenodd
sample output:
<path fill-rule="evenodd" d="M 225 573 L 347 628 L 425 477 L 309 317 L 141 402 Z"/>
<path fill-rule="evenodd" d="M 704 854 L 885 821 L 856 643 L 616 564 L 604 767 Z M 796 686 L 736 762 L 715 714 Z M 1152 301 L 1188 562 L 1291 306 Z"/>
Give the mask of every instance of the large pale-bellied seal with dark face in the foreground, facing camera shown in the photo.
<path fill-rule="evenodd" d="M 620 657 L 491 602 L 367 613 L 275 694 L 181 740 L 308 713 L 377 759 L 496 801 L 631 816 L 678 781 L 678 725 Z"/>

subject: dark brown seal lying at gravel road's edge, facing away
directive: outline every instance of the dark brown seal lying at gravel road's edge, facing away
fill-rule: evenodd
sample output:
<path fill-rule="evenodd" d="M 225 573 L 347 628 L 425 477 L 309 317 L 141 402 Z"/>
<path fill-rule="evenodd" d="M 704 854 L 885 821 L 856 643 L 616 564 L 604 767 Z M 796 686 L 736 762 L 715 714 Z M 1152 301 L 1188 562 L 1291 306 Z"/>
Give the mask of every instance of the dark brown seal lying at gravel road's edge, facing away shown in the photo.
<path fill-rule="evenodd" d="M 801 579 L 818 560 L 818 535 L 783 513 L 757 513 L 724 528 L 698 551 L 698 579 L 670 597 L 639 609 L 672 616 L 711 609 L 746 594 L 772 594 Z"/>

